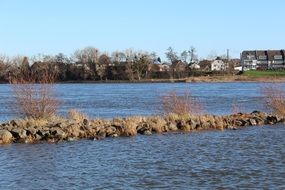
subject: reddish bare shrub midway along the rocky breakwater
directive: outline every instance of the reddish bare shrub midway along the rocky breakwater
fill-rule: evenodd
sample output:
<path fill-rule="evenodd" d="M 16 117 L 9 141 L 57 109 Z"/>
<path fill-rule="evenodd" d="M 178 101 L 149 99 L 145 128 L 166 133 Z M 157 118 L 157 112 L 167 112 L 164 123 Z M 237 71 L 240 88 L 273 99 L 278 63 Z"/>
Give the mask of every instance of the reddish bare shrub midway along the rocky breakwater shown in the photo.
<path fill-rule="evenodd" d="M 164 114 L 197 115 L 202 113 L 201 103 L 192 96 L 189 90 L 179 95 L 175 90 L 162 97 L 162 111 Z"/>

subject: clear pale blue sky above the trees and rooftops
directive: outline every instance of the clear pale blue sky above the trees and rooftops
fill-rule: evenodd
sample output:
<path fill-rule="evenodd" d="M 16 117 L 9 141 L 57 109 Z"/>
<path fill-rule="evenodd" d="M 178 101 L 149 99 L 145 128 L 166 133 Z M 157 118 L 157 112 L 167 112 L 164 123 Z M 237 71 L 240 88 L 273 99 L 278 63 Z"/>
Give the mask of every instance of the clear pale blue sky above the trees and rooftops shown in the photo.
<path fill-rule="evenodd" d="M 284 49 L 284 0 L 1 0 L 0 54 Z"/>

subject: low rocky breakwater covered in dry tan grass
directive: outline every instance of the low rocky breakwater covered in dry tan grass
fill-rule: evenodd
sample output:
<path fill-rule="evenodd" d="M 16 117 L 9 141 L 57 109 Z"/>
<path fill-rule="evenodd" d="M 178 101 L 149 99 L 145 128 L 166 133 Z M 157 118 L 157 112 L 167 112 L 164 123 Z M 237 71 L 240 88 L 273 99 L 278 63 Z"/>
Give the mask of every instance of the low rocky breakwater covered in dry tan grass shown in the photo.
<path fill-rule="evenodd" d="M 151 135 L 174 131 L 239 129 L 246 126 L 273 125 L 285 119 L 259 111 L 226 116 L 176 115 L 104 119 L 49 120 L 19 119 L 0 125 L 0 143 L 58 142 L 76 139 L 100 140 L 106 137 Z"/>

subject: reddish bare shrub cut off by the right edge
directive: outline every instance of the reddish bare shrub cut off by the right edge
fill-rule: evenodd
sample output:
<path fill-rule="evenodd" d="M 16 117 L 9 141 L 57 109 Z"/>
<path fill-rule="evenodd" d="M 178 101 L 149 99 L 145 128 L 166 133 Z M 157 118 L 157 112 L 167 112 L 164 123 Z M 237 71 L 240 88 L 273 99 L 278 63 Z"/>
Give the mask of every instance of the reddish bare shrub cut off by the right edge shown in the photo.
<path fill-rule="evenodd" d="M 285 116 L 285 90 L 281 85 L 271 84 L 261 88 L 265 104 L 273 113 Z"/>

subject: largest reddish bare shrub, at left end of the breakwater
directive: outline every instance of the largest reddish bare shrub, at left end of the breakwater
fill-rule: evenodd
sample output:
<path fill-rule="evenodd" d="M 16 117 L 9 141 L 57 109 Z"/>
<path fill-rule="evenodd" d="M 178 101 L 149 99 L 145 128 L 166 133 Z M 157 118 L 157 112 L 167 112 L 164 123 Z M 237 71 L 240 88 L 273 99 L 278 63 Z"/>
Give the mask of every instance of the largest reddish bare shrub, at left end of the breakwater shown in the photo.
<path fill-rule="evenodd" d="M 41 79 L 33 76 L 10 80 L 14 99 L 11 110 L 20 116 L 49 118 L 56 114 L 59 100 L 55 97 L 54 76 L 48 73 Z"/>

